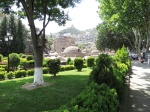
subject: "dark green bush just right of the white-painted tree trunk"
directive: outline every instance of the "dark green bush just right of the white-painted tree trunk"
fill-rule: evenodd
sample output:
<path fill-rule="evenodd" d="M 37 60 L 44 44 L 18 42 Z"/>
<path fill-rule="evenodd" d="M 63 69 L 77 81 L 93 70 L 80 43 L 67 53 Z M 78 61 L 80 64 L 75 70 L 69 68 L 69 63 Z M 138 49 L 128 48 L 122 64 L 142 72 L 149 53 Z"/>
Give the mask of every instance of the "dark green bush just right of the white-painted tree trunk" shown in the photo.
<path fill-rule="evenodd" d="M 51 59 L 47 63 L 49 68 L 49 73 L 56 76 L 60 70 L 60 59 Z"/>

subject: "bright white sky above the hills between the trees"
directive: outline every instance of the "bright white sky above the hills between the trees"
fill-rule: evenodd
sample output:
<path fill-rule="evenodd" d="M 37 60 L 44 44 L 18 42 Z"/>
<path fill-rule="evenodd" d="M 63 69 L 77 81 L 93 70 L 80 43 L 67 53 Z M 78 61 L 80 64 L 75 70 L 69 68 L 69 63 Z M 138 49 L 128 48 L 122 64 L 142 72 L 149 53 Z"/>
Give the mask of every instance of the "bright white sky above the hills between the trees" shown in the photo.
<path fill-rule="evenodd" d="M 72 25 L 83 31 L 91 28 L 95 28 L 102 21 L 97 13 L 99 3 L 96 0 L 82 0 L 80 4 L 77 4 L 74 8 L 68 8 L 69 17 L 71 21 L 67 21 L 65 26 L 58 26 L 55 22 L 50 22 L 46 27 L 46 34 L 57 33 L 63 29 L 69 28 Z M 27 26 L 27 20 L 23 20 L 23 23 Z M 42 28 L 42 23 L 35 22 L 36 27 Z"/>

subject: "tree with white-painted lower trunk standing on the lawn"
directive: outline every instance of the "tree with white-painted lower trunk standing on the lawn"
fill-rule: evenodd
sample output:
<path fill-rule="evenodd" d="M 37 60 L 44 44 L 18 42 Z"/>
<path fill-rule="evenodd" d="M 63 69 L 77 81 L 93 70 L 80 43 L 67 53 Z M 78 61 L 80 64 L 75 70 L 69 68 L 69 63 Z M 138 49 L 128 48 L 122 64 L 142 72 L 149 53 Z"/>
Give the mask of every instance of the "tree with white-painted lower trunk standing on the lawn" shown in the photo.
<path fill-rule="evenodd" d="M 68 14 L 63 9 L 74 7 L 75 3 L 80 0 L 2 0 L 0 7 L 5 13 L 12 11 L 12 5 L 19 7 L 18 14 L 21 17 L 27 17 L 31 30 L 31 40 L 34 51 L 34 84 L 41 85 L 43 80 L 43 49 L 45 47 L 45 28 L 49 21 L 55 21 L 59 25 L 64 25 L 68 20 Z M 20 8 L 21 7 L 21 8 Z M 43 21 L 43 26 L 40 32 L 36 32 L 34 20 Z"/>

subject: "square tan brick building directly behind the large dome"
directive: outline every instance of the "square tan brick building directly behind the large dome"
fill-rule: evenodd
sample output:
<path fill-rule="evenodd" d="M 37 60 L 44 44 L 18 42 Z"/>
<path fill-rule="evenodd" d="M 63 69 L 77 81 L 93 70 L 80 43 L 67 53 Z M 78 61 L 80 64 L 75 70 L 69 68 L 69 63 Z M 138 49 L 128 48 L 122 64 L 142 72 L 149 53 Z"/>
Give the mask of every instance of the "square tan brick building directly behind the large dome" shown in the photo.
<path fill-rule="evenodd" d="M 54 51 L 59 54 L 71 45 L 75 45 L 75 39 L 72 37 L 63 36 L 54 39 Z"/>

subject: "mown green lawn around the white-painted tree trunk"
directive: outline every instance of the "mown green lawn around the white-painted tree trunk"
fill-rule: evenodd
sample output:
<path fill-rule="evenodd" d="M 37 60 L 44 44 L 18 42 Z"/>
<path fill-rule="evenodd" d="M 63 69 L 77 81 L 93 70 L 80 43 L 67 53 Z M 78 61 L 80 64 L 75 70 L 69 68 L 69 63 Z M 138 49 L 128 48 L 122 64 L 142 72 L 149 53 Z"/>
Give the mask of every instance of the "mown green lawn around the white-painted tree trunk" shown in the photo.
<path fill-rule="evenodd" d="M 0 81 L 0 112 L 41 112 L 69 104 L 87 85 L 91 69 L 60 72 L 57 77 L 44 74 L 51 86 L 25 90 L 21 86 L 33 77 Z"/>

